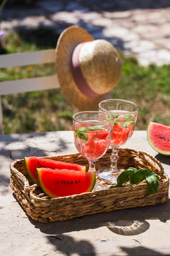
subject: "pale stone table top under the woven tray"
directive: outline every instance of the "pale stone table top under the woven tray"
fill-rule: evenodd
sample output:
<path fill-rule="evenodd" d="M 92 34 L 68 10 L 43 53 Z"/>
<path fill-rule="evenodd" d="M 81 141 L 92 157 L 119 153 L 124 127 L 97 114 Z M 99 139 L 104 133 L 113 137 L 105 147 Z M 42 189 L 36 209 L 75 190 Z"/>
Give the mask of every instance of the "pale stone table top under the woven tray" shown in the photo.
<path fill-rule="evenodd" d="M 146 131 L 135 131 L 125 147 L 152 154 L 170 176 L 170 157 L 150 147 Z M 9 186 L 10 163 L 75 152 L 72 131 L 0 135 L 0 256 L 170 254 L 170 200 L 48 224 L 26 215 Z"/>

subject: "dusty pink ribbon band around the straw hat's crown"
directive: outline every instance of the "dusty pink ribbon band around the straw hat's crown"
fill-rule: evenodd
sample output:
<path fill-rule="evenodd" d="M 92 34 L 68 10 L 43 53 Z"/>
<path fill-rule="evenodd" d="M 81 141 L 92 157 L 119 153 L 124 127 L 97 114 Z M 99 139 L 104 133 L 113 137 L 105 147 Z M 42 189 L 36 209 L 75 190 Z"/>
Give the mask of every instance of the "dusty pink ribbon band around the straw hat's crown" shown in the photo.
<path fill-rule="evenodd" d="M 85 42 L 86 43 L 86 42 Z M 77 85 L 78 89 L 87 97 L 89 98 L 96 98 L 100 96 L 100 94 L 94 93 L 88 84 L 85 81 L 85 78 L 82 74 L 82 70 L 80 67 L 79 62 L 79 52 L 82 46 L 85 44 L 78 44 L 71 55 L 71 73 L 74 79 L 75 84 Z"/>

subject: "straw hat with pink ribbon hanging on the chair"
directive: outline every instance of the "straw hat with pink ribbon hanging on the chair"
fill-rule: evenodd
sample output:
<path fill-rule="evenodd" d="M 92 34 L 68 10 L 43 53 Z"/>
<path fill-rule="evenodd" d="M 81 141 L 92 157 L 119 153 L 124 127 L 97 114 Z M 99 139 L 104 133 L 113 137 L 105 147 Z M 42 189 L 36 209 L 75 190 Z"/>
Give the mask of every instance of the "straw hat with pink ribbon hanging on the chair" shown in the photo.
<path fill-rule="evenodd" d="M 60 35 L 56 68 L 65 97 L 80 111 L 98 110 L 122 74 L 120 57 L 111 43 L 94 40 L 84 29 L 71 26 Z"/>

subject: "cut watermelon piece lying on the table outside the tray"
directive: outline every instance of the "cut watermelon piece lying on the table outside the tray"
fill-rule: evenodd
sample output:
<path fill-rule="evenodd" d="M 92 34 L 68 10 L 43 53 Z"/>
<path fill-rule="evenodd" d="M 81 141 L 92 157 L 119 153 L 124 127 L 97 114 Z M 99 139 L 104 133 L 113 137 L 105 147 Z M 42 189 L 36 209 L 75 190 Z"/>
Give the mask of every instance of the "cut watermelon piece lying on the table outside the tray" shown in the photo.
<path fill-rule="evenodd" d="M 149 122 L 147 140 L 160 154 L 170 155 L 170 126 Z"/>

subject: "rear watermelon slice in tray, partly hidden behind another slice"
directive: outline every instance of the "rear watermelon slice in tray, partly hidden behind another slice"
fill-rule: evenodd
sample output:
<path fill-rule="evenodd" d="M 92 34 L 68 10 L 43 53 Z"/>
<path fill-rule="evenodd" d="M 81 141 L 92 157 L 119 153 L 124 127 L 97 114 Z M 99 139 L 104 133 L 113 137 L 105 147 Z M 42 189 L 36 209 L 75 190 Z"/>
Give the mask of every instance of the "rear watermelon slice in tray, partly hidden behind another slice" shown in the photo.
<path fill-rule="evenodd" d="M 30 178 L 38 185 L 37 179 L 37 168 L 51 168 L 51 169 L 68 169 L 68 170 L 75 170 L 75 171 L 86 171 L 85 166 L 81 166 L 79 164 L 74 163 L 65 163 L 62 161 L 54 161 L 51 159 L 45 158 L 37 158 L 37 157 L 25 157 L 24 163 L 26 167 L 26 171 Z"/>

